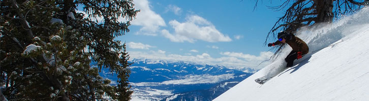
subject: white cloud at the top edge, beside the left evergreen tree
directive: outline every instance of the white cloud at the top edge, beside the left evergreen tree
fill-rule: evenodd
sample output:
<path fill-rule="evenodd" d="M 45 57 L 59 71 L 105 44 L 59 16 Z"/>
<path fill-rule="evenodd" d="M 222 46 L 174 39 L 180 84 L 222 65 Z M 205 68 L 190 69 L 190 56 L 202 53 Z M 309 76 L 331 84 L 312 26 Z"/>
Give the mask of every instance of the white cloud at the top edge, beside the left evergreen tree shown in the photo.
<path fill-rule="evenodd" d="M 137 13 L 136 19 L 131 22 L 132 25 L 142 26 L 136 34 L 158 35 L 160 26 L 166 26 L 163 18 L 151 10 L 147 0 L 135 0 L 134 4 L 135 9 L 141 10 Z"/>

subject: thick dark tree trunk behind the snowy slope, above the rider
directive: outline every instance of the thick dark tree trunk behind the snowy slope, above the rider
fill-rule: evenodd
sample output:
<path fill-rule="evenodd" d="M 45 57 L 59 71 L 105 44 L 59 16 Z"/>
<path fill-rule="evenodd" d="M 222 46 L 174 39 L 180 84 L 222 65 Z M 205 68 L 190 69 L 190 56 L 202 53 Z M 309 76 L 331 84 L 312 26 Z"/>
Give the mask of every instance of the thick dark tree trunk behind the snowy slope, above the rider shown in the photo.
<path fill-rule="evenodd" d="M 333 20 L 333 0 L 315 0 L 317 19 L 316 23 L 320 22 L 332 22 Z"/>

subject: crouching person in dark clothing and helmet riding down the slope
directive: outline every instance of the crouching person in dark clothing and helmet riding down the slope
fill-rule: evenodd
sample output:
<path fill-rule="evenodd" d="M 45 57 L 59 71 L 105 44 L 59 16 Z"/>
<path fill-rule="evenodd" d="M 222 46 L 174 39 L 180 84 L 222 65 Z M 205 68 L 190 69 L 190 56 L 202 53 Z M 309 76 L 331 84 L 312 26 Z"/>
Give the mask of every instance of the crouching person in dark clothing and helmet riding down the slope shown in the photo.
<path fill-rule="evenodd" d="M 287 43 L 292 47 L 292 51 L 288 56 L 285 58 L 285 61 L 287 62 L 287 68 L 293 66 L 293 61 L 295 59 L 301 59 L 303 55 L 306 55 L 309 53 L 309 46 L 304 41 L 302 41 L 297 36 L 287 33 L 285 31 L 278 33 L 278 40 L 269 43 L 268 46 L 274 46 L 278 44 L 284 44 Z"/>

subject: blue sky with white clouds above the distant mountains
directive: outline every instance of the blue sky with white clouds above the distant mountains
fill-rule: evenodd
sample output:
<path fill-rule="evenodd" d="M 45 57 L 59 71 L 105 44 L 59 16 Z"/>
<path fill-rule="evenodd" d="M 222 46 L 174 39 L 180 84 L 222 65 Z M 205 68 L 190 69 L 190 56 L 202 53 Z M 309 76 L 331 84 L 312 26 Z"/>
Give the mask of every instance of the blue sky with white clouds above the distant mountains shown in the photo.
<path fill-rule="evenodd" d="M 263 68 L 274 52 L 264 46 L 270 28 L 283 12 L 270 1 L 135 0 L 141 10 L 130 32 L 117 40 L 127 43 L 131 59 L 188 61 L 242 69 Z M 270 39 L 268 42 L 275 41 Z"/>

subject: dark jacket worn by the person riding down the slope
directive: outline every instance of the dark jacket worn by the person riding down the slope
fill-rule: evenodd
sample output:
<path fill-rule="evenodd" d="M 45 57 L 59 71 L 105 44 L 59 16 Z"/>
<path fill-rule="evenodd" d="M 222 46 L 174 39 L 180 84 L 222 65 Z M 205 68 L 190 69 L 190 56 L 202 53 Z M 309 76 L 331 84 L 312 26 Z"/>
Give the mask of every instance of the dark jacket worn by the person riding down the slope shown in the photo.
<path fill-rule="evenodd" d="M 303 40 L 293 34 L 289 34 L 286 38 L 286 43 L 292 47 L 293 51 L 301 52 L 302 55 L 309 53 L 309 46 Z M 277 40 L 274 42 L 275 45 L 282 44 L 281 41 Z"/>

